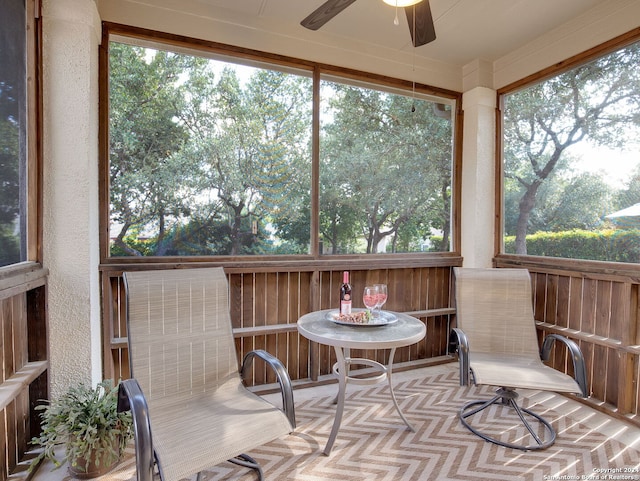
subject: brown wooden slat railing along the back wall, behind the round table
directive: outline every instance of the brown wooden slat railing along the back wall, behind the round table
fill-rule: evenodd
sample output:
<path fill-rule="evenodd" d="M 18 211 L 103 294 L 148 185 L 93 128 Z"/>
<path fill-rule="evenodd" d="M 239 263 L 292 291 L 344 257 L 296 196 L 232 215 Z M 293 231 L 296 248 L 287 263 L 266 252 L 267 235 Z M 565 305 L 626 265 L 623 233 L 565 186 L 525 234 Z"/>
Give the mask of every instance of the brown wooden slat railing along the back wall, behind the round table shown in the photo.
<path fill-rule="evenodd" d="M 360 295 L 365 284 L 384 282 L 389 286 L 385 309 L 406 312 L 427 325 L 425 340 L 398 349 L 395 355 L 397 368 L 451 360 L 447 337 L 455 313 L 451 296 L 452 267 L 460 263 L 457 256 L 444 256 L 411 262 L 404 260 L 397 265 L 386 262 L 379 268 L 367 265 L 366 261 L 342 261 L 333 265 L 325 262 L 225 266 L 238 359 L 252 349 L 265 349 L 285 364 L 294 383 L 322 381 L 331 373 L 335 354 L 327 346 L 310 343 L 299 336 L 296 322 L 308 312 L 337 308 L 342 271 L 349 270 L 356 293 L 355 307 L 362 307 Z M 177 266 L 156 264 L 144 268 L 168 267 Z M 183 264 L 179 267 L 197 265 Z M 129 377 L 122 272 L 140 268 L 131 265 L 126 268 L 103 267 L 105 377 Z M 359 354 L 364 353 L 354 352 L 354 355 Z M 367 352 L 366 355 L 384 362 L 388 351 Z M 250 380 L 253 385 L 274 382 L 273 375 L 260 366 L 255 368 Z"/>

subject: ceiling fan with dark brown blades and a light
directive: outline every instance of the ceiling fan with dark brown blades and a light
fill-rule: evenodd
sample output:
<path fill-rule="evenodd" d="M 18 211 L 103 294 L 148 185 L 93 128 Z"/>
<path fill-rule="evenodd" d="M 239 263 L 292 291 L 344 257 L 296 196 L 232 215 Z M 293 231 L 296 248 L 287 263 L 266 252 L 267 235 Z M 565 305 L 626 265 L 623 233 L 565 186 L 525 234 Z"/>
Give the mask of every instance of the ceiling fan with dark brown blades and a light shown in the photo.
<path fill-rule="evenodd" d="M 355 1 L 356 0 L 327 0 L 311 12 L 300 24 L 310 30 L 318 30 Z M 383 1 L 394 7 L 404 7 L 414 47 L 420 47 L 436 39 L 436 31 L 433 25 L 429 0 Z"/>

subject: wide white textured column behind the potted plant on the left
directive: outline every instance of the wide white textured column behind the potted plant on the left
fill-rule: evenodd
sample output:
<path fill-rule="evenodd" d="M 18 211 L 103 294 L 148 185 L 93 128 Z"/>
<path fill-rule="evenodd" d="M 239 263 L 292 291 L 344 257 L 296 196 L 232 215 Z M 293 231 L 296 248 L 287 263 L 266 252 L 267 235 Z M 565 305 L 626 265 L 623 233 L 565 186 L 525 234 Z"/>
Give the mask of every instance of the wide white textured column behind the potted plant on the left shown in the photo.
<path fill-rule="evenodd" d="M 98 45 L 93 0 L 44 0 L 44 265 L 51 394 L 102 377 Z"/>

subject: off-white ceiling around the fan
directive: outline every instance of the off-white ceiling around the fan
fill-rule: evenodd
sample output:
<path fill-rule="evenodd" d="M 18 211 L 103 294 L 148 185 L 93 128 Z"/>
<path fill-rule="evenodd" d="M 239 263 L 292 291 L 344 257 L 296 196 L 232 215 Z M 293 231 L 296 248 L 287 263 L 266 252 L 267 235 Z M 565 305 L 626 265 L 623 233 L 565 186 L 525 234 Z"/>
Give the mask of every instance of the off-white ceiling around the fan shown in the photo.
<path fill-rule="evenodd" d="M 382 0 L 358 0 L 318 31 L 300 21 L 324 0 L 196 0 L 217 18 L 238 26 L 271 30 L 291 40 L 340 42 L 412 50 L 407 20 Z M 412 55 L 462 67 L 475 59 L 494 61 L 606 0 L 430 0 L 437 38 Z M 349 49 L 349 47 L 346 47 Z M 357 49 L 355 49 L 357 50 Z"/>

